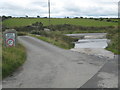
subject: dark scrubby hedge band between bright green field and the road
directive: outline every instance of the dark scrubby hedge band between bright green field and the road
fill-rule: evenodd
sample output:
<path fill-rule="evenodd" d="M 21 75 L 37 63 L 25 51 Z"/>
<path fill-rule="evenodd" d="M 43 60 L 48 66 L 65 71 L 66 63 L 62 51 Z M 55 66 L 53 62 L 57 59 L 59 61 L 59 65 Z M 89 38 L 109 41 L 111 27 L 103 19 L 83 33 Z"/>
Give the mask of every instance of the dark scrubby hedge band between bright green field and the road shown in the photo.
<path fill-rule="evenodd" d="M 71 24 L 60 24 L 60 25 L 50 25 L 50 26 L 43 26 L 41 22 L 33 23 L 29 26 L 22 26 L 22 27 L 15 27 L 15 29 L 18 32 L 31 32 L 33 30 L 35 31 L 43 31 L 44 28 L 49 28 L 51 31 L 59 31 L 61 34 L 72 34 L 72 33 L 100 33 L 100 32 L 106 32 L 109 29 L 114 29 L 115 26 L 102 26 L 102 27 L 96 27 L 96 26 L 77 26 L 77 25 L 71 25 Z M 3 28 L 3 31 L 6 28 Z"/>

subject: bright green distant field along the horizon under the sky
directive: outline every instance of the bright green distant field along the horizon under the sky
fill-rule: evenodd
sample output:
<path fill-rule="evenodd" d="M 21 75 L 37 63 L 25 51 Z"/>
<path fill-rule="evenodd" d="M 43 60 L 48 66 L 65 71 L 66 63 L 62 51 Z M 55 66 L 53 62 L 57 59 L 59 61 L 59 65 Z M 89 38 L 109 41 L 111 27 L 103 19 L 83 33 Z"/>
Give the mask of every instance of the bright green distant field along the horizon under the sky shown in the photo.
<path fill-rule="evenodd" d="M 42 22 L 44 26 L 49 25 L 48 18 L 12 18 L 3 21 L 3 25 L 5 25 L 6 27 L 14 28 L 20 26 L 28 26 L 35 22 Z M 100 21 L 94 19 L 52 18 L 51 24 L 52 25 L 72 24 L 72 25 L 80 25 L 80 26 L 101 27 L 101 26 L 116 26 L 118 23 Z"/>

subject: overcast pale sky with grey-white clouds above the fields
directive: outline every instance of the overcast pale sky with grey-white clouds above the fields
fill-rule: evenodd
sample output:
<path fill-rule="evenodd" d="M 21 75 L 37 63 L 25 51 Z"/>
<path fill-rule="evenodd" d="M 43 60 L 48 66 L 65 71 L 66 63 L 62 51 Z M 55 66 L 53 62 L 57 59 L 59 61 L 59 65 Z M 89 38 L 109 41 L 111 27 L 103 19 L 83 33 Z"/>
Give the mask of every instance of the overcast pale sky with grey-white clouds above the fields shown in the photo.
<path fill-rule="evenodd" d="M 117 17 L 119 0 L 50 0 L 51 17 Z M 48 0 L 0 0 L 0 16 L 48 17 Z"/>

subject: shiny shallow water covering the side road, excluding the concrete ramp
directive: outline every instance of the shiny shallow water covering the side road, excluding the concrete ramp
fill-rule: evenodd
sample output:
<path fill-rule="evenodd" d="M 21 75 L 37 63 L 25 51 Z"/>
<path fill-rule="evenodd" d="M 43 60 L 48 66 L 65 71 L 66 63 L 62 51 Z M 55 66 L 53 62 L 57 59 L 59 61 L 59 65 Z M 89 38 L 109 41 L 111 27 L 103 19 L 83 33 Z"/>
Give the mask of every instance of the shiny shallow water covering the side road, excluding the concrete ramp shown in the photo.
<path fill-rule="evenodd" d="M 106 34 L 107 33 L 80 33 L 67 34 L 67 36 L 80 38 L 78 42 L 75 42 L 74 48 L 106 48 L 109 41 L 106 39 Z"/>

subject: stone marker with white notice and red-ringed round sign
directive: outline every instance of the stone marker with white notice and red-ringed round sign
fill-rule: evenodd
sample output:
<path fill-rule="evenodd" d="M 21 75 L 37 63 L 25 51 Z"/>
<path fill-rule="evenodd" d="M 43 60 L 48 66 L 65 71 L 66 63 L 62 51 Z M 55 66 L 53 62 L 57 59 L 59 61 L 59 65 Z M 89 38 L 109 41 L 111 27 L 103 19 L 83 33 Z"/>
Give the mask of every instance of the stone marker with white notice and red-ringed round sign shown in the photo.
<path fill-rule="evenodd" d="M 8 29 L 3 33 L 4 45 L 13 47 L 17 44 L 17 32 L 14 29 Z"/>

